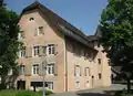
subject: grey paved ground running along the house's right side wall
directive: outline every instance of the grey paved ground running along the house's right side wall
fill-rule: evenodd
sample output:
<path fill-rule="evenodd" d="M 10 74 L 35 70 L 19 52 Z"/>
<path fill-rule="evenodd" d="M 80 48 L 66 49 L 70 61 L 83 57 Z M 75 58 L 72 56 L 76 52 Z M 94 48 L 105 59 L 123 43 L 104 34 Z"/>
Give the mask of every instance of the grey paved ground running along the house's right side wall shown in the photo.
<path fill-rule="evenodd" d="M 110 87 L 85 89 L 85 90 L 79 90 L 79 92 L 60 93 L 60 94 L 53 94 L 51 96 L 112 96 L 111 95 L 112 92 L 121 90 L 124 88 L 126 88 L 125 85 L 113 84 Z"/>

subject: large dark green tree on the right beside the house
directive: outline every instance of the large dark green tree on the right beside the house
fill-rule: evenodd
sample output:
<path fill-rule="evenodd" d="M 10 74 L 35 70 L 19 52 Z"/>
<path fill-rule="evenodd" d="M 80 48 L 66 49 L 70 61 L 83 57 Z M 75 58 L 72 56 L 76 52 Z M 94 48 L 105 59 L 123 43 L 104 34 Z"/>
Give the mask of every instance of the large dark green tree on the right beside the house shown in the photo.
<path fill-rule="evenodd" d="M 114 65 L 127 81 L 133 77 L 133 0 L 109 0 L 100 21 L 100 43 Z"/>

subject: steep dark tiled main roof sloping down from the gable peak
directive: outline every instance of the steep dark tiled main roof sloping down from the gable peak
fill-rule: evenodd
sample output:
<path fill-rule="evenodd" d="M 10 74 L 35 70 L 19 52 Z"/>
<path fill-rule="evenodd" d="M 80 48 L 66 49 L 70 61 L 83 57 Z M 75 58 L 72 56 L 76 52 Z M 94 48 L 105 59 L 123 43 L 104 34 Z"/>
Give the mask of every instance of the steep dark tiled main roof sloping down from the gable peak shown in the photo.
<path fill-rule="evenodd" d="M 34 3 L 28 6 L 25 9 L 23 9 L 21 15 L 25 13 L 27 11 L 31 11 L 34 9 L 39 9 L 42 11 L 42 13 L 47 17 L 49 22 L 54 25 L 59 31 L 61 31 L 64 35 L 74 39 L 75 41 L 89 46 L 90 49 L 93 49 L 89 45 L 88 38 L 84 33 L 82 33 L 79 29 L 66 22 L 64 19 L 55 14 L 53 11 L 49 10 L 47 7 L 41 4 L 40 2 L 35 1 Z M 93 49 L 94 50 L 94 49 Z"/>

